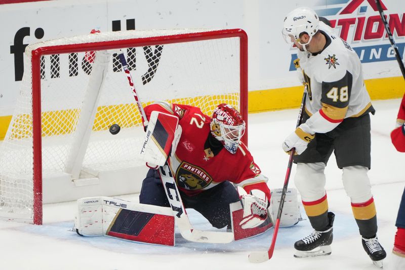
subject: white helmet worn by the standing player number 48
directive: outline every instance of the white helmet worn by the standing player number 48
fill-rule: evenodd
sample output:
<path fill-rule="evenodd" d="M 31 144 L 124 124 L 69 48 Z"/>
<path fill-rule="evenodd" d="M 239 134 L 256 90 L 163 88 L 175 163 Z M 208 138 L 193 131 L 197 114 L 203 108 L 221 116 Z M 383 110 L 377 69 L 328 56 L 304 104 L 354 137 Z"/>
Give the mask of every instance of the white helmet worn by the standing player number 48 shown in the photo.
<path fill-rule="evenodd" d="M 284 19 L 284 26 L 282 28 L 282 35 L 287 43 L 296 41 L 302 45 L 306 50 L 305 45 L 309 44 L 312 36 L 319 30 L 319 18 L 315 11 L 310 8 L 302 7 L 297 8 L 287 14 Z M 307 33 L 309 40 L 307 43 L 301 43 L 301 34 Z"/>

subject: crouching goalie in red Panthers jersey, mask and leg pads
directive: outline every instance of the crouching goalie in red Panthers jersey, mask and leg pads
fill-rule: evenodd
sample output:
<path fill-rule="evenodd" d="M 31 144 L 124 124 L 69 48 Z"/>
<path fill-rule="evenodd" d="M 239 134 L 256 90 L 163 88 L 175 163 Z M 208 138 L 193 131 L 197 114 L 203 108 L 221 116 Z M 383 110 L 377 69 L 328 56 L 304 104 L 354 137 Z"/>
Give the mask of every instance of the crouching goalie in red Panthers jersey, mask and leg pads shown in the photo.
<path fill-rule="evenodd" d="M 219 104 L 209 117 L 198 107 L 161 101 L 144 111 L 146 133 L 140 156 L 150 169 L 142 182 L 140 203 L 81 199 L 75 220 L 78 234 L 174 245 L 176 220 L 181 235 L 190 241 L 227 243 L 272 226 L 268 179 L 241 142 L 245 121 L 236 109 Z M 296 207 L 285 226 L 298 222 L 296 192 L 292 198 Z M 91 204 L 97 210 L 93 214 L 88 209 Z M 222 230 L 200 231 L 198 237 L 191 237 L 190 231 L 197 234 L 197 230 L 188 221 L 187 208 Z"/>

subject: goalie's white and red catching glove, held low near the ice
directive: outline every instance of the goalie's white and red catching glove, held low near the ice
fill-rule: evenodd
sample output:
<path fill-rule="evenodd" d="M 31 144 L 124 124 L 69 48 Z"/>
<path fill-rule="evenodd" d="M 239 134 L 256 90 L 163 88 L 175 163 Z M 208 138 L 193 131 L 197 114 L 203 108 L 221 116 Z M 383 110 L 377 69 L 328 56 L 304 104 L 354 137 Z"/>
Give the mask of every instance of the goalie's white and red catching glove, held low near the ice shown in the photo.
<path fill-rule="evenodd" d="M 244 207 L 243 219 L 239 225 L 242 229 L 254 228 L 262 224 L 267 218 L 268 201 L 263 191 L 259 189 L 251 190 L 247 194 L 245 189 L 237 187 L 239 198 Z"/>

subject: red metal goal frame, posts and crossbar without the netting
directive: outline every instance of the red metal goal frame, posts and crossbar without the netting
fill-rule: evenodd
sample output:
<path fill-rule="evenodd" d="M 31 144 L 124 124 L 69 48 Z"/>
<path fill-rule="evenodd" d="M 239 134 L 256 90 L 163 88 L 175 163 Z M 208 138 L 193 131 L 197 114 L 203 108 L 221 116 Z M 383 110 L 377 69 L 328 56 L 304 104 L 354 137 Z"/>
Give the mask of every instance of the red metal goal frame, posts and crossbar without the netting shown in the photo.
<path fill-rule="evenodd" d="M 42 175 L 42 128 L 41 128 L 41 57 L 61 53 L 79 53 L 92 50 L 112 50 L 125 47 L 140 47 L 206 41 L 219 38 L 239 38 L 240 96 L 239 110 L 248 126 L 248 35 L 242 29 L 224 29 L 207 32 L 182 33 L 167 36 L 138 37 L 128 40 L 79 43 L 39 47 L 31 51 L 32 71 L 32 139 L 33 139 L 33 223 L 43 223 L 43 175 Z M 248 144 L 248 132 L 242 142 Z"/>

